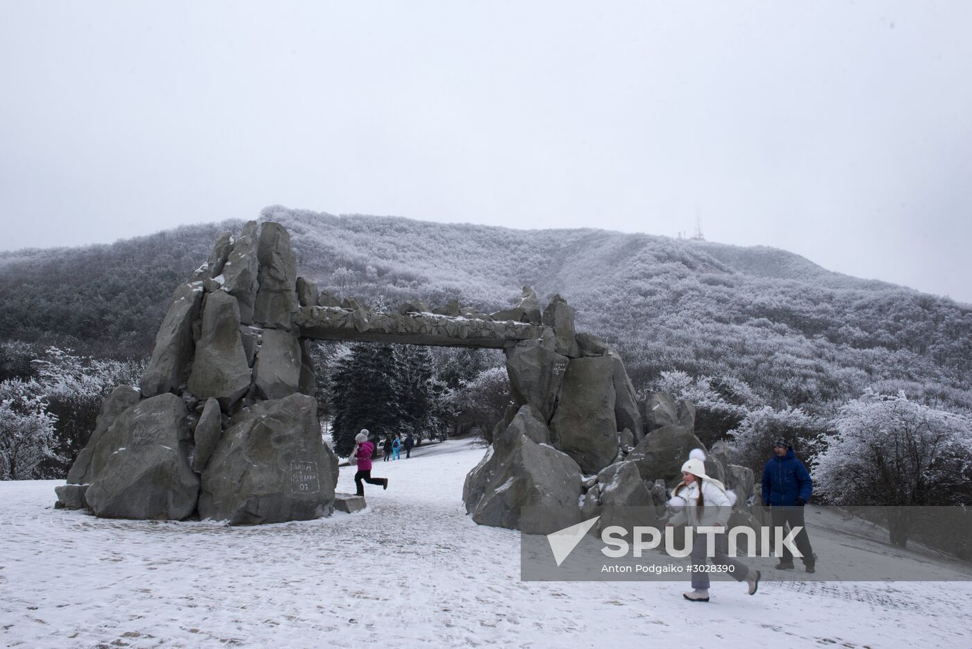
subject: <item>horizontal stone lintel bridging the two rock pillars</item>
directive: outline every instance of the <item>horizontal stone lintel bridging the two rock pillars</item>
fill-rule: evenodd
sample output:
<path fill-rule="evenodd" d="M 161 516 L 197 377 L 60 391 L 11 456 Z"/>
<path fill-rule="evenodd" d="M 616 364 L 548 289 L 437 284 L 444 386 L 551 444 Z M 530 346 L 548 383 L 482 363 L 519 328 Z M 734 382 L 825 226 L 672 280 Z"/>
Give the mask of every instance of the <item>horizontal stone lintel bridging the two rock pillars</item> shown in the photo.
<path fill-rule="evenodd" d="M 294 323 L 305 338 L 438 347 L 501 349 L 523 340 L 553 336 L 550 327 L 530 323 L 322 306 L 300 307 L 295 311 Z"/>

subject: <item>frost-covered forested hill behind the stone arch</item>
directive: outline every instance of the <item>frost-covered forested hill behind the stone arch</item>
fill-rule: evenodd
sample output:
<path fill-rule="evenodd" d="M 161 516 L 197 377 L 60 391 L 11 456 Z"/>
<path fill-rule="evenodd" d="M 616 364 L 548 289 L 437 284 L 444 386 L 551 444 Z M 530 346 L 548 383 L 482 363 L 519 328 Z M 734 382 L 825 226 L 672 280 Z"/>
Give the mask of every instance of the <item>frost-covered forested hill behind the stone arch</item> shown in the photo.
<path fill-rule="evenodd" d="M 579 329 L 619 349 L 638 389 L 679 369 L 742 380 L 777 406 L 816 410 L 876 387 L 972 408 L 972 307 L 783 251 L 276 206 L 261 219 L 291 231 L 301 274 L 372 306 L 458 298 L 493 311 L 525 284 L 544 300 L 560 293 Z M 102 353 L 147 354 L 171 291 L 220 231 L 241 225 L 0 255 L 0 337 L 57 334 Z"/>

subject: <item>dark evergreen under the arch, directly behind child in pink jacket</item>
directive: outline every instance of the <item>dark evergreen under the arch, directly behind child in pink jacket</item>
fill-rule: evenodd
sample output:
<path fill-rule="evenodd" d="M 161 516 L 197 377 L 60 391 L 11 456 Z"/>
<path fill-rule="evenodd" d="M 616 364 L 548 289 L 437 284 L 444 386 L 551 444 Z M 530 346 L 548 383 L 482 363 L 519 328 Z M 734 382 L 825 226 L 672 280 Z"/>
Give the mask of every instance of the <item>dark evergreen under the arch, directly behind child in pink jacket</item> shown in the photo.
<path fill-rule="evenodd" d="M 408 425 L 402 401 L 403 369 L 391 345 L 357 343 L 338 359 L 331 375 L 330 411 L 334 452 L 346 456 L 362 428 L 372 440 L 401 433 Z"/>

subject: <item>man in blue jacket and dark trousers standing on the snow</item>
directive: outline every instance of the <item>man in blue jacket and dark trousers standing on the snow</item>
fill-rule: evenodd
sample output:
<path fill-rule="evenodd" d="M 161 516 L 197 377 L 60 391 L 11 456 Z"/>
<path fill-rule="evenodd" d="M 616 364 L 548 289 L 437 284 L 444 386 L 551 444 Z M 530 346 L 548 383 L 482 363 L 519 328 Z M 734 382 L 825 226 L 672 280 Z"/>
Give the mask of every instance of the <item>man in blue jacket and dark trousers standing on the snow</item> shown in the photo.
<path fill-rule="evenodd" d="M 803 555 L 807 572 L 816 571 L 814 550 L 810 547 L 810 537 L 804 523 L 803 506 L 810 500 L 814 481 L 802 461 L 796 459 L 793 447 L 780 438 L 773 442 L 774 457 L 766 462 L 763 469 L 763 505 L 770 507 L 773 527 L 789 524 L 790 529 L 803 528 L 793 539 L 796 549 Z M 793 553 L 782 547 L 778 570 L 793 569 Z"/>

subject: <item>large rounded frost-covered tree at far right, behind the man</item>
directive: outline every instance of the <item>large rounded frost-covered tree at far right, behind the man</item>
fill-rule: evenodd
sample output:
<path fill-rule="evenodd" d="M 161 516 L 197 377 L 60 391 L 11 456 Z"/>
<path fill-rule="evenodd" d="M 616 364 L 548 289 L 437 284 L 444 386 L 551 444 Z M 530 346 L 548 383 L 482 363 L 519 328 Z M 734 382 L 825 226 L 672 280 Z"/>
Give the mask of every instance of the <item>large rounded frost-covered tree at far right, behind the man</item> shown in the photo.
<path fill-rule="evenodd" d="M 890 541 L 904 547 L 918 505 L 955 504 L 972 454 L 972 421 L 868 391 L 845 405 L 816 460 L 821 492 L 839 505 L 885 505 Z M 961 502 L 959 504 L 969 504 Z"/>

